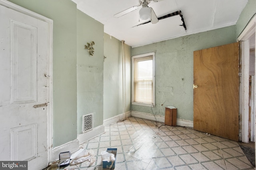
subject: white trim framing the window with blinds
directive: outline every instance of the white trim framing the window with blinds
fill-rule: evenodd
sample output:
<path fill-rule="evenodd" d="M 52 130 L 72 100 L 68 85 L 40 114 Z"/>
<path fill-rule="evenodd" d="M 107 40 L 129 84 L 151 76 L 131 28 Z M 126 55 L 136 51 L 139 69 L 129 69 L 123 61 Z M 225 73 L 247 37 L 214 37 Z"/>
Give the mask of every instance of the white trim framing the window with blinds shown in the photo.
<path fill-rule="evenodd" d="M 152 62 L 153 62 L 153 103 L 142 103 L 142 102 L 133 102 L 134 101 L 134 59 L 136 58 L 141 58 L 141 57 L 147 57 L 147 56 L 153 56 Z M 132 104 L 133 105 L 140 105 L 140 106 L 149 106 L 149 107 L 154 107 L 155 104 L 155 89 L 156 89 L 156 84 L 155 84 L 155 52 L 152 53 L 146 53 L 146 54 L 141 54 L 141 55 L 135 55 L 132 56 Z"/>

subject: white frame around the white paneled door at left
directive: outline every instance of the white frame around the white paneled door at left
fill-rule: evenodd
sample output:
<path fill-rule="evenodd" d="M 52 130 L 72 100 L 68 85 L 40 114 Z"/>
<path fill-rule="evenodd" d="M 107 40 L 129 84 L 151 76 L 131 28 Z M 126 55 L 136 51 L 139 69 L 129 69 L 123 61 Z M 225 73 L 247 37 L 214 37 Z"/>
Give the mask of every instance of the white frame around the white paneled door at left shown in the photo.
<path fill-rule="evenodd" d="M 45 21 L 47 23 L 47 29 L 48 29 L 48 46 L 47 46 L 47 143 L 48 143 L 48 163 L 53 160 L 53 150 L 52 150 L 52 136 L 53 136 L 53 106 L 52 106 L 52 43 L 53 43 L 53 20 L 46 18 L 40 14 L 37 14 L 35 12 L 32 12 L 30 10 L 27 10 L 26 8 L 23 8 L 21 6 L 18 6 L 12 2 L 9 2 L 7 0 L 0 0 L 0 5 L 5 6 L 7 8 L 10 8 L 12 10 L 16 10 L 20 13 L 26 14 L 28 16 L 37 18 L 39 20 Z"/>

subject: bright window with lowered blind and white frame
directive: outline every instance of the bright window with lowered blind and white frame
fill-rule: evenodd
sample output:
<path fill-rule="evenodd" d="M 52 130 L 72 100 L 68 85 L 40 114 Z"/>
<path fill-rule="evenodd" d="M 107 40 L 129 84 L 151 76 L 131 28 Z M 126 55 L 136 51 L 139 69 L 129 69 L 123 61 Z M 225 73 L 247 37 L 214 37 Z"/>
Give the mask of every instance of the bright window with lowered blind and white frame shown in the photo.
<path fill-rule="evenodd" d="M 132 104 L 155 105 L 155 53 L 132 57 Z"/>

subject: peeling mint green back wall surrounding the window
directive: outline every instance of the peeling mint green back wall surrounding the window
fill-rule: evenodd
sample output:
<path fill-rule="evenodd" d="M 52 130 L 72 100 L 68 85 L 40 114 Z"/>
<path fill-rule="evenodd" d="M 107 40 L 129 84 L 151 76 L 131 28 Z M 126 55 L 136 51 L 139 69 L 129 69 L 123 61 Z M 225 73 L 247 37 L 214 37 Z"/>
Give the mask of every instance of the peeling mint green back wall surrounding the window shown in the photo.
<path fill-rule="evenodd" d="M 193 51 L 236 42 L 236 26 L 229 26 L 132 48 L 132 56 L 156 52 L 155 115 L 177 107 L 177 118 L 193 121 Z M 151 113 L 151 107 L 132 105 L 132 111 Z"/>

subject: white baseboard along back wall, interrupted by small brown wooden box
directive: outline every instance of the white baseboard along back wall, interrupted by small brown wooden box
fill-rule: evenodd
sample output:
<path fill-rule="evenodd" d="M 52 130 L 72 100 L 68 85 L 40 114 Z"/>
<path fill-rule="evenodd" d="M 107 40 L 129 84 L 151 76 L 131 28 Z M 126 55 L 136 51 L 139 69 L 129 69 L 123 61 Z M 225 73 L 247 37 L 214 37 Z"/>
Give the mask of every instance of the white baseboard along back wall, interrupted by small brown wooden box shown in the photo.
<path fill-rule="evenodd" d="M 149 114 L 149 113 L 132 111 L 132 116 L 164 123 L 164 116 L 160 116 L 160 115 L 155 115 L 154 116 L 154 115 Z M 184 120 L 184 119 L 176 119 L 176 125 L 177 126 L 182 126 L 182 127 L 192 127 L 192 128 L 194 127 L 193 121 Z"/>

